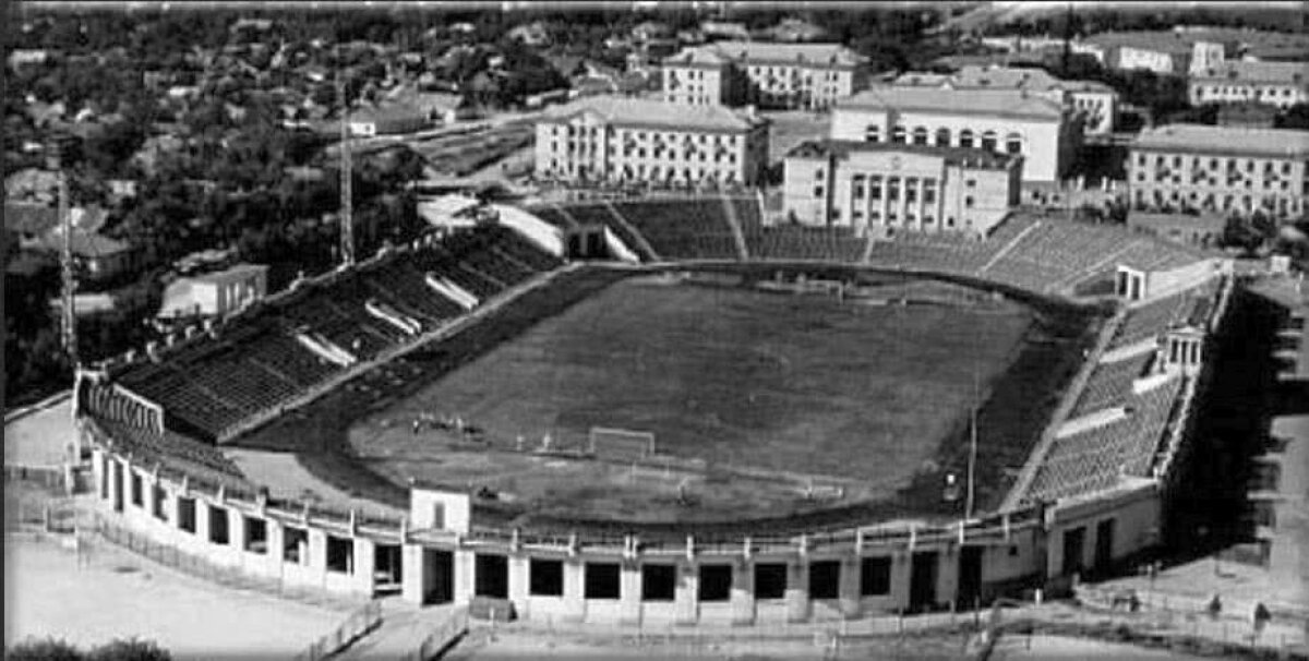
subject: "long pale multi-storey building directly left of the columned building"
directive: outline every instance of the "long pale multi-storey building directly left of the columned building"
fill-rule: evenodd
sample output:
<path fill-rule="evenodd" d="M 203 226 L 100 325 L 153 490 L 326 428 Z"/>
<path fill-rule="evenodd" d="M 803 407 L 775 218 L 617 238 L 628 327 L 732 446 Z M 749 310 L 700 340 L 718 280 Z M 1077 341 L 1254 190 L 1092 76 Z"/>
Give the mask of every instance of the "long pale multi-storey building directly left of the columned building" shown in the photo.
<path fill-rule="evenodd" d="M 753 107 L 590 97 L 537 122 L 542 178 L 754 186 L 767 164 L 768 120 Z"/>

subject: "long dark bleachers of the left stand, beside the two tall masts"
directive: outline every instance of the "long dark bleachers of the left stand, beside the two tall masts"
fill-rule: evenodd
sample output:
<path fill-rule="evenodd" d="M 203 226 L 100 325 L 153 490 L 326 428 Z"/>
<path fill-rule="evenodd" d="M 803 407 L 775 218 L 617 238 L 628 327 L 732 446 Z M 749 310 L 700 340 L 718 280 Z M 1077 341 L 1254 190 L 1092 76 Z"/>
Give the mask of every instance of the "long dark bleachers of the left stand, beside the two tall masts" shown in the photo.
<path fill-rule="evenodd" d="M 476 228 L 306 283 L 220 326 L 213 336 L 166 349 L 158 361 L 136 363 L 115 378 L 161 404 L 171 423 L 216 440 L 343 370 L 297 342 L 298 334 L 325 338 L 367 361 L 412 342 L 412 335 L 370 313 L 370 301 L 431 330 L 463 309 L 427 285 L 428 272 L 484 300 L 560 263 L 511 229 Z"/>

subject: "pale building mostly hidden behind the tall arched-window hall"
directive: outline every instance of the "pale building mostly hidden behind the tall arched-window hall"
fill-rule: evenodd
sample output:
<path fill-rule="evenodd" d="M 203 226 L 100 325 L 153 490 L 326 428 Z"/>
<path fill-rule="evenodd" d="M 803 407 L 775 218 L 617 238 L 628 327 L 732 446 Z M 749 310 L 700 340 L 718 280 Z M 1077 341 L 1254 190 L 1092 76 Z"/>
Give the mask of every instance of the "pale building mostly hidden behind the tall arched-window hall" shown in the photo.
<path fill-rule="evenodd" d="M 1086 135 L 1111 134 L 1118 115 L 1118 92 L 1114 88 L 1093 80 L 1060 80 L 1035 68 L 966 65 L 950 75 L 903 73 L 893 84 L 944 89 L 1025 89 L 1081 113 Z"/>

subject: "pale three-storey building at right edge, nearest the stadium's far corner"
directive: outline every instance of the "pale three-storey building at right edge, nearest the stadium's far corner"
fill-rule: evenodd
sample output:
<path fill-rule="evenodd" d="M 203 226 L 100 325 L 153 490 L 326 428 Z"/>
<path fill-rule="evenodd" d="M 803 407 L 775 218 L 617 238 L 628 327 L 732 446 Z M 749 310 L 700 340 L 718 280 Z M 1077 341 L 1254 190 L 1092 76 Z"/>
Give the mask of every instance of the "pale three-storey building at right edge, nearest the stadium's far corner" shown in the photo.
<path fill-rule="evenodd" d="M 1136 137 L 1127 173 L 1139 211 L 1275 217 L 1306 211 L 1309 131 L 1169 124 Z"/>

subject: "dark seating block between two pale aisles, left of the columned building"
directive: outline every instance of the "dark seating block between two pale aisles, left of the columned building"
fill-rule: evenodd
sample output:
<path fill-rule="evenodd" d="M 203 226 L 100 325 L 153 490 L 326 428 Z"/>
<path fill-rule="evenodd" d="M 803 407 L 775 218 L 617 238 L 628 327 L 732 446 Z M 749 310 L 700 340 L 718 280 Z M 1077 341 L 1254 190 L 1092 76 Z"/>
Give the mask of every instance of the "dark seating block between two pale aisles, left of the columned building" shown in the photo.
<path fill-rule="evenodd" d="M 617 202 L 613 209 L 665 259 L 738 259 L 719 198 Z"/>

